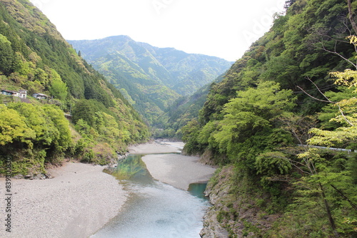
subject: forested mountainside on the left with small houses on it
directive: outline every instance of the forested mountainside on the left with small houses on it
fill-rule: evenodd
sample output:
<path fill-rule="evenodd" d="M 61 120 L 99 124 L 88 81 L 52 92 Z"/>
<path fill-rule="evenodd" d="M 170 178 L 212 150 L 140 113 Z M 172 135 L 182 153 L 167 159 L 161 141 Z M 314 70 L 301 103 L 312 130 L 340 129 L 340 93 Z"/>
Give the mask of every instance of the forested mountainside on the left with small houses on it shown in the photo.
<path fill-rule="evenodd" d="M 149 129 L 123 95 L 77 55 L 27 0 L 0 1 L 0 173 L 44 173 L 64 157 L 108 163 Z M 34 93 L 43 98 L 32 97 Z M 64 117 L 71 118 L 71 123 Z M 71 114 L 71 115 L 69 115 Z"/>

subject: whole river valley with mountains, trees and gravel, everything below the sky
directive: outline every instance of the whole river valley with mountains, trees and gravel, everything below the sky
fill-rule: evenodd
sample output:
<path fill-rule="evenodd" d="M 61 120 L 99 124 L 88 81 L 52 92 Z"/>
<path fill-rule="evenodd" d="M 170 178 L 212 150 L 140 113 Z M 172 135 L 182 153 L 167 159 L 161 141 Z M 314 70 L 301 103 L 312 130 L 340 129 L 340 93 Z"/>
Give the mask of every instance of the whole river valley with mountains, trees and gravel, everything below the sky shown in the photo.
<path fill-rule="evenodd" d="M 11 235 L 356 237 L 357 1 L 284 9 L 229 62 L 122 35 L 66 41 L 30 1 L 0 0 Z M 91 209 L 99 188 L 109 207 Z"/>

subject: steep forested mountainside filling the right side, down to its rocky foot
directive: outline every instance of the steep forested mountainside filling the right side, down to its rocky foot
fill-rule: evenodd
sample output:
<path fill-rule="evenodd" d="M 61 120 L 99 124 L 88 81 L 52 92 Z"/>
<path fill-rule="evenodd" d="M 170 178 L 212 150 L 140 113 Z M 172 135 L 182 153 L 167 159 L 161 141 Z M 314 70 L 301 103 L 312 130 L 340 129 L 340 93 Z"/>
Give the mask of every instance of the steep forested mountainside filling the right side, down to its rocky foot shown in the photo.
<path fill-rule="evenodd" d="M 357 1 L 286 8 L 182 129 L 221 166 L 202 237 L 357 236 Z"/>

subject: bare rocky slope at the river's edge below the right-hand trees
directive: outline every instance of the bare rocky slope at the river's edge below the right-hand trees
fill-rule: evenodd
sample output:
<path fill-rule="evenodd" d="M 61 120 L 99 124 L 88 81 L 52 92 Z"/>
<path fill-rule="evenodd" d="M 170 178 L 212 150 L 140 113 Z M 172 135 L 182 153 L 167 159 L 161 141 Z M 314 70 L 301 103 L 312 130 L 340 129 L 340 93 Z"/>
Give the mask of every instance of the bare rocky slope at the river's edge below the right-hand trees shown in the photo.
<path fill-rule="evenodd" d="M 203 217 L 202 238 L 263 237 L 279 217 L 261 209 L 268 199 L 233 170 L 233 165 L 218 169 L 208 182 L 205 193 L 213 206 Z"/>

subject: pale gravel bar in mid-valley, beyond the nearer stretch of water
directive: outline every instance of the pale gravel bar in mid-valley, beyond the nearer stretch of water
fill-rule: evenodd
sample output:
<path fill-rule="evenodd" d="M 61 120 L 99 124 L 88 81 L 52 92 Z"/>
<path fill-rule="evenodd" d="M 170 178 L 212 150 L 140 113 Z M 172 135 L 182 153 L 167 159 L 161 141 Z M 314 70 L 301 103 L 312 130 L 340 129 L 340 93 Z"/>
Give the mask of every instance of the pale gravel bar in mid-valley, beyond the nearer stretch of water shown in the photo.
<path fill-rule="evenodd" d="M 199 157 L 164 154 L 182 148 L 180 142 L 156 142 L 131 147 L 130 153 L 153 154 L 141 157 L 151 175 L 156 180 L 187 190 L 193 182 L 208 181 L 216 169 L 198 162 Z"/>

